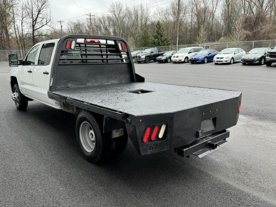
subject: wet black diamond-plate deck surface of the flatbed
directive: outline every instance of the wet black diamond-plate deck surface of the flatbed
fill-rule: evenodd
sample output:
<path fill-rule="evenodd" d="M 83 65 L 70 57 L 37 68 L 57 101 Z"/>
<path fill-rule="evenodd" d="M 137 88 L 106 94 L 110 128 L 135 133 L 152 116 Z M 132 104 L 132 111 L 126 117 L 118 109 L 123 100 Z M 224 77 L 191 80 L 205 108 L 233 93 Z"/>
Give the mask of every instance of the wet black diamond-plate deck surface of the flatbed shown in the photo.
<path fill-rule="evenodd" d="M 153 92 L 131 93 L 133 90 Z M 235 98 L 241 92 L 148 82 L 106 84 L 53 91 L 56 95 L 132 115 L 170 113 Z"/>

